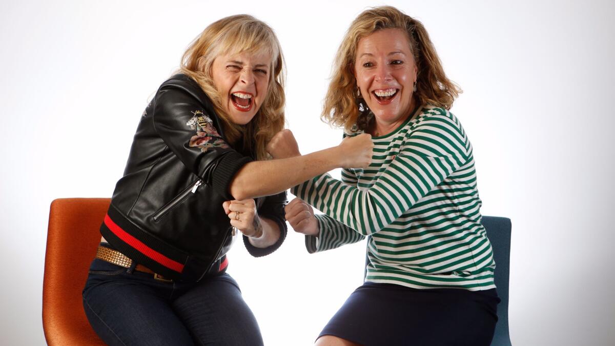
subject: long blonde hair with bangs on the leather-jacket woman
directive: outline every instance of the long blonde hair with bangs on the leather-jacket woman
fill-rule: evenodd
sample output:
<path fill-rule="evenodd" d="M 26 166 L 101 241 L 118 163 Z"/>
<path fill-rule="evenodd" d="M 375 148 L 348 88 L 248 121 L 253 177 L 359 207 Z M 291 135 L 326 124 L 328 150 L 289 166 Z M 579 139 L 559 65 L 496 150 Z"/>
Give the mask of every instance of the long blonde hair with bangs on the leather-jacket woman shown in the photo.
<path fill-rule="evenodd" d="M 232 123 L 224 111 L 223 97 L 213 83 L 212 65 L 216 57 L 229 53 L 271 54 L 269 90 L 252 121 L 245 125 Z M 257 159 L 269 157 L 266 145 L 284 128 L 284 57 L 274 31 L 251 15 L 232 15 L 222 18 L 197 36 L 181 58 L 180 73 L 194 79 L 212 100 L 222 120 L 226 140 L 231 145 L 244 137 L 244 148 L 251 148 Z M 256 147 L 253 148 L 255 140 Z"/>

